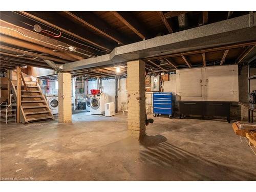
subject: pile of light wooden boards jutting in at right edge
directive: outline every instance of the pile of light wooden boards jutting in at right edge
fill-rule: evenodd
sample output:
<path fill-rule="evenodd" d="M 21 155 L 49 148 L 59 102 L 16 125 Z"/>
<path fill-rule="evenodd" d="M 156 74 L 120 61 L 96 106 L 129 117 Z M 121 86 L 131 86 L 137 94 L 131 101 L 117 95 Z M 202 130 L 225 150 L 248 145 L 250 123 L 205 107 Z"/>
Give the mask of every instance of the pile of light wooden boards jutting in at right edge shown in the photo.
<path fill-rule="evenodd" d="M 256 123 L 237 121 L 232 124 L 234 133 L 246 137 L 249 143 L 256 147 Z"/>

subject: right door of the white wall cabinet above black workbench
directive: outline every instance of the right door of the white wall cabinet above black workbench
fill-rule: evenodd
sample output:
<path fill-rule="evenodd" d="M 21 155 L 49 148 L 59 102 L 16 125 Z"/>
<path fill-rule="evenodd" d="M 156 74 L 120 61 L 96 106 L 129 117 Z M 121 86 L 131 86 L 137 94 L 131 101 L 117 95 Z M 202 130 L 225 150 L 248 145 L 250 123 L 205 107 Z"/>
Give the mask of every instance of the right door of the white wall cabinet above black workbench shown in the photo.
<path fill-rule="evenodd" d="M 205 68 L 204 86 L 207 101 L 238 101 L 238 66 Z"/>

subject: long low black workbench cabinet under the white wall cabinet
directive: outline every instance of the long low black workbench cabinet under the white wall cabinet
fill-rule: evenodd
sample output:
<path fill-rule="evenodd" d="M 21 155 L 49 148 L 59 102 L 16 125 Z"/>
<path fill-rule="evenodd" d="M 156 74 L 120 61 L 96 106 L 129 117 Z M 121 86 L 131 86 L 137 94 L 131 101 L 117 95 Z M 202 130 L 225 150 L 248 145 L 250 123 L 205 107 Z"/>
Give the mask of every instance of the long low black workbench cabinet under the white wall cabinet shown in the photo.
<path fill-rule="evenodd" d="M 180 118 L 184 115 L 227 117 L 230 122 L 230 102 L 222 101 L 179 101 Z"/>

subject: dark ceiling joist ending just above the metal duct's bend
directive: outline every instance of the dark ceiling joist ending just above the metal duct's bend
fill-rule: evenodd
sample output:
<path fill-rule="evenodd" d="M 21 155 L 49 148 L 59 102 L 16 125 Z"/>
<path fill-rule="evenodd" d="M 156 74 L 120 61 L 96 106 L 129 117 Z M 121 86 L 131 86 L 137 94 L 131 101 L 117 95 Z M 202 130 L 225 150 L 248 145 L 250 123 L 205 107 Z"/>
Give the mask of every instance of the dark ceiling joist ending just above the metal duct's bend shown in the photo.
<path fill-rule="evenodd" d="M 120 35 L 120 32 L 115 31 L 107 23 L 105 23 L 101 18 L 97 17 L 93 12 L 83 11 L 80 13 L 76 11 L 75 13 L 70 11 L 64 11 L 71 18 L 76 20 L 78 23 L 90 27 L 94 31 L 114 40 L 118 45 L 126 44 L 124 37 Z"/>

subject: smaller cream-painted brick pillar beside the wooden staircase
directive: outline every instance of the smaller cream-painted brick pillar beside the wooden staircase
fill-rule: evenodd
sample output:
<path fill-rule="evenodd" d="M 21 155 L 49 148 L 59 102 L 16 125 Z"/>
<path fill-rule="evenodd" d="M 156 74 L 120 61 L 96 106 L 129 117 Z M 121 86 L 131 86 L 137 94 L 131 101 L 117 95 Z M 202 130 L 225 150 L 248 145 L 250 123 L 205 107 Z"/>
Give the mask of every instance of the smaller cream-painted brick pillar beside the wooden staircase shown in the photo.
<path fill-rule="evenodd" d="M 59 123 L 72 122 L 70 73 L 58 73 Z"/>

